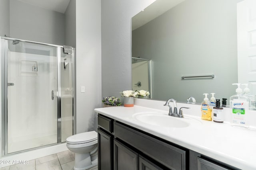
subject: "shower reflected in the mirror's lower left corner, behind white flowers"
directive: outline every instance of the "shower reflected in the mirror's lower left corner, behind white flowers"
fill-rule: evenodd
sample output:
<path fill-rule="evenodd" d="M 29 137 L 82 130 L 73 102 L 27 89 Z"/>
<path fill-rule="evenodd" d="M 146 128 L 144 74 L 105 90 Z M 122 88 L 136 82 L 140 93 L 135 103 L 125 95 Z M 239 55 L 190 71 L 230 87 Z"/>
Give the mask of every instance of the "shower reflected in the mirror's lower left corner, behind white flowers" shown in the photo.
<path fill-rule="evenodd" d="M 152 98 L 152 61 L 132 57 L 132 90 L 146 90 Z"/>

